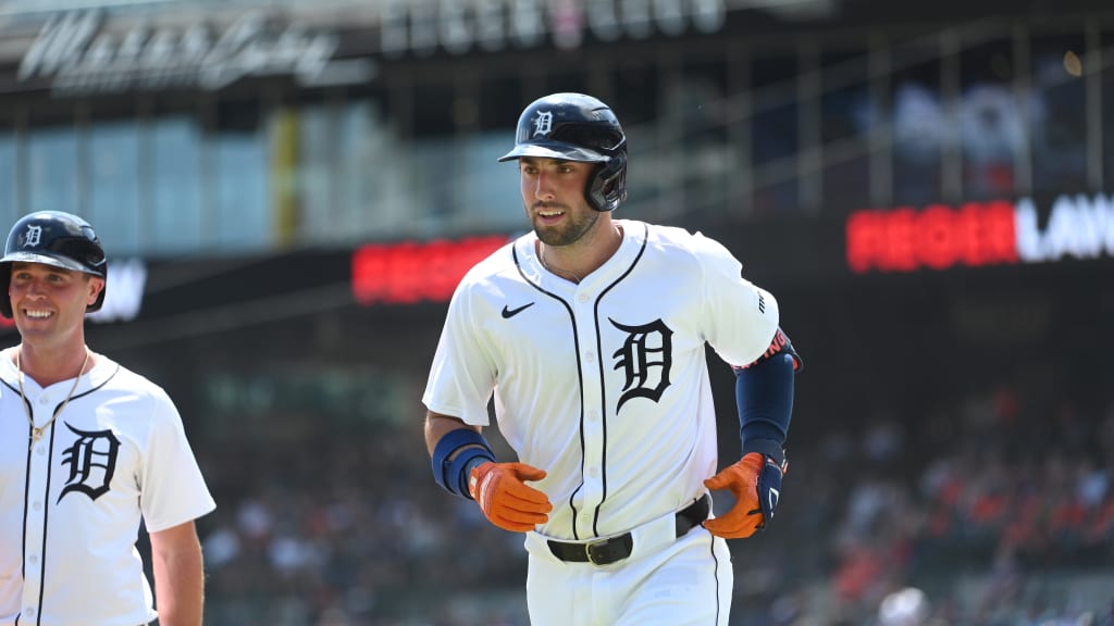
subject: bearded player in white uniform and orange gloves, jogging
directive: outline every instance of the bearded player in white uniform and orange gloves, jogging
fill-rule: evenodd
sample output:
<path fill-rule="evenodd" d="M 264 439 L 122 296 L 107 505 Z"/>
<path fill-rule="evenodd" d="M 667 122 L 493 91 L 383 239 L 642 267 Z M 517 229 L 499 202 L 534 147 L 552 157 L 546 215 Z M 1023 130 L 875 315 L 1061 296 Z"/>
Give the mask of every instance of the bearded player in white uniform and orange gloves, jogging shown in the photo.
<path fill-rule="evenodd" d="M 799 362 L 778 301 L 700 234 L 612 218 L 626 137 L 596 98 L 530 104 L 514 149 L 528 233 L 472 267 L 423 395 L 437 482 L 525 532 L 530 620 L 725 625 L 725 538 L 769 524 Z M 742 458 L 716 472 L 705 344 L 737 365 Z M 481 433 L 494 397 L 518 459 Z M 710 519 L 709 490 L 736 498 Z"/>

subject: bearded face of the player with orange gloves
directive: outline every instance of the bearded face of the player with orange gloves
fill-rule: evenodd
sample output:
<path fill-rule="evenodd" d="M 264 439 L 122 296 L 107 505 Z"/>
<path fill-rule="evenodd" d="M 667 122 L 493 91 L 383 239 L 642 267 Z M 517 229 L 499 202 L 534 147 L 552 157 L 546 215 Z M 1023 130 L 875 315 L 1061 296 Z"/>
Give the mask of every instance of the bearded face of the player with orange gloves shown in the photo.
<path fill-rule="evenodd" d="M 594 163 L 551 158 L 518 159 L 526 216 L 544 244 L 576 243 L 599 221 L 599 212 L 588 206 L 584 196 L 596 167 Z"/>

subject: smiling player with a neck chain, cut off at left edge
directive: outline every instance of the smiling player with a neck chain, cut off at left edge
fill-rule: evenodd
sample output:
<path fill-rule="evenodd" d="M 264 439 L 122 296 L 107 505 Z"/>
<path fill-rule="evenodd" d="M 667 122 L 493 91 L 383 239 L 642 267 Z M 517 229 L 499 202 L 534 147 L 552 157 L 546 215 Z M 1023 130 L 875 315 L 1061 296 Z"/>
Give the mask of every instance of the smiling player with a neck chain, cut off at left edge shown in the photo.
<path fill-rule="evenodd" d="M 67 213 L 19 219 L 0 258 L 20 334 L 0 352 L 0 626 L 202 624 L 194 520 L 215 505 L 166 392 L 85 343 L 106 276 L 100 239 Z"/>

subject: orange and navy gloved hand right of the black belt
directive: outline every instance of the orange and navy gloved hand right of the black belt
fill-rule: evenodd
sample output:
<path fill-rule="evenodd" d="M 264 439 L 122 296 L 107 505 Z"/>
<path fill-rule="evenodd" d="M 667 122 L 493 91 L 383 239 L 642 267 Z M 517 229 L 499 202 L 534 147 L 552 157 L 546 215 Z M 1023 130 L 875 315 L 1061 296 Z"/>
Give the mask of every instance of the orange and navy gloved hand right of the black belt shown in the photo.
<path fill-rule="evenodd" d="M 712 535 L 742 539 L 754 535 L 773 519 L 781 497 L 781 477 L 788 464 L 778 467 L 761 452 L 750 452 L 735 464 L 704 481 L 709 489 L 727 489 L 735 495 L 735 506 L 715 519 L 704 521 Z"/>

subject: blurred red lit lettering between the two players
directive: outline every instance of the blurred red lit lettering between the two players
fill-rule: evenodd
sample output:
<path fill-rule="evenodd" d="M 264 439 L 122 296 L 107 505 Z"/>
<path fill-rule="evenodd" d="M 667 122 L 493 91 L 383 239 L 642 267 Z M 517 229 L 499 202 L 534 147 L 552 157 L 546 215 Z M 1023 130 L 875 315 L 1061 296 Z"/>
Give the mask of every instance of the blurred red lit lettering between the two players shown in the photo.
<path fill-rule="evenodd" d="M 460 278 L 506 236 L 365 245 L 352 254 L 352 295 L 363 305 L 446 302 Z"/>

